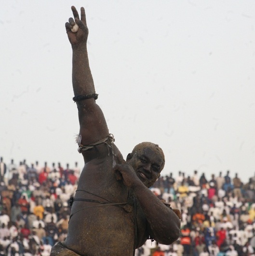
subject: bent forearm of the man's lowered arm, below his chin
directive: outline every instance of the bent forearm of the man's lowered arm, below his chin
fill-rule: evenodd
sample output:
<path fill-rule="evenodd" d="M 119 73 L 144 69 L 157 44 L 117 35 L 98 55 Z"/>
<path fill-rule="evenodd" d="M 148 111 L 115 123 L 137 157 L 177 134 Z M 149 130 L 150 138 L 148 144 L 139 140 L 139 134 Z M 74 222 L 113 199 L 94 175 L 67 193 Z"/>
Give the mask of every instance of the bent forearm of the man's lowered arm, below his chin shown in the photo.
<path fill-rule="evenodd" d="M 133 187 L 135 197 L 146 215 L 149 231 L 153 238 L 162 244 L 170 244 L 178 239 L 180 220 L 169 207 L 164 205 L 145 185 Z"/>

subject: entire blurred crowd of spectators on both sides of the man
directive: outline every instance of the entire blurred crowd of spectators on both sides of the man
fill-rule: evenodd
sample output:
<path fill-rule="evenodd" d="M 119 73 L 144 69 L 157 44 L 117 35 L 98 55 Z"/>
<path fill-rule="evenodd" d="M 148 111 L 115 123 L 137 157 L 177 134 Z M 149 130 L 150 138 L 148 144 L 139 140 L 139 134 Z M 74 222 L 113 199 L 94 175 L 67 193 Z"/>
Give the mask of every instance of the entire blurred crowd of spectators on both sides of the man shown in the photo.
<path fill-rule="evenodd" d="M 65 240 L 80 171 L 77 163 L 16 165 L 0 157 L 0 256 L 49 256 Z M 210 178 L 179 171 L 150 189 L 181 210 L 181 234 L 172 245 L 148 240 L 136 256 L 255 255 L 255 176 L 243 184 L 229 171 Z"/>

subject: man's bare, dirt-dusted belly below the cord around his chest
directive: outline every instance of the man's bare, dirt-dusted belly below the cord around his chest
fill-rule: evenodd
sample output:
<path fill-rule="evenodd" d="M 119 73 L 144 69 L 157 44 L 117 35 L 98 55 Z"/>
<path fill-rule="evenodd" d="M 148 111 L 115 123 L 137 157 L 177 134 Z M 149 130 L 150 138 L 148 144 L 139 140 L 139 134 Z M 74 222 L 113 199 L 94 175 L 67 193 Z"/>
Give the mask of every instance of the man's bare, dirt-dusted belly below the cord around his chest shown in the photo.
<path fill-rule="evenodd" d="M 76 202 L 77 208 L 93 203 Z M 134 248 L 133 213 L 122 207 L 100 206 L 75 213 L 69 222 L 67 248 L 86 256 L 132 256 Z"/>

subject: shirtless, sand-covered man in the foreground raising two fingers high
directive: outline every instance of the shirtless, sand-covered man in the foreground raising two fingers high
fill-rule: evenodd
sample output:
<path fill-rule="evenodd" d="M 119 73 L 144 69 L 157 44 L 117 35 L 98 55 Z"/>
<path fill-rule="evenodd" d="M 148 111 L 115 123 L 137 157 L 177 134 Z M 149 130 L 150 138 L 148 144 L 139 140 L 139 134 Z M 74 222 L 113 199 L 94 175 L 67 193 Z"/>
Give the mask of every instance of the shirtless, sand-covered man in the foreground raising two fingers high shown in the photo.
<path fill-rule="evenodd" d="M 151 142 L 136 145 L 126 161 L 109 134 L 104 114 L 96 104 L 87 54 L 88 28 L 81 19 L 66 23 L 73 50 L 72 82 L 80 133 L 79 152 L 85 162 L 72 203 L 68 234 L 51 256 L 132 256 L 147 239 L 170 244 L 178 239 L 180 220 L 149 189 L 160 176 L 165 159 Z M 71 29 L 78 24 L 77 32 Z"/>

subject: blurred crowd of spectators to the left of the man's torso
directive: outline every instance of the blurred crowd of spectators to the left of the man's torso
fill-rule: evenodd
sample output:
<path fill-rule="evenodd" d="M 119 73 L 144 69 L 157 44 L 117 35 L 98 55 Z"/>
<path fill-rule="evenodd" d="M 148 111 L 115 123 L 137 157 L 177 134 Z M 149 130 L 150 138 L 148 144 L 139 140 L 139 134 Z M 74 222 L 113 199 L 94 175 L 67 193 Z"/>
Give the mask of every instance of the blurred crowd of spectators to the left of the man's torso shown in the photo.
<path fill-rule="evenodd" d="M 75 163 L 7 165 L 0 157 L 0 256 L 49 256 L 67 236 L 69 200 L 80 177 Z"/>

